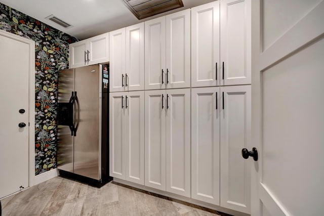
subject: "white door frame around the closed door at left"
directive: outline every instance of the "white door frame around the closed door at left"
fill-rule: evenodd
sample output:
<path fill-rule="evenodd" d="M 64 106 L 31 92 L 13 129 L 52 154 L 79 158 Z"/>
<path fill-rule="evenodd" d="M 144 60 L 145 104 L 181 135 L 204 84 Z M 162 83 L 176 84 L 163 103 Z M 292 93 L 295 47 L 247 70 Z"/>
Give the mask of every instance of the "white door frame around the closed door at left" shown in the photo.
<path fill-rule="evenodd" d="M 28 112 L 28 188 L 35 183 L 35 42 L 31 39 L 0 29 L 0 35 L 23 42 L 29 46 L 29 112 Z"/>

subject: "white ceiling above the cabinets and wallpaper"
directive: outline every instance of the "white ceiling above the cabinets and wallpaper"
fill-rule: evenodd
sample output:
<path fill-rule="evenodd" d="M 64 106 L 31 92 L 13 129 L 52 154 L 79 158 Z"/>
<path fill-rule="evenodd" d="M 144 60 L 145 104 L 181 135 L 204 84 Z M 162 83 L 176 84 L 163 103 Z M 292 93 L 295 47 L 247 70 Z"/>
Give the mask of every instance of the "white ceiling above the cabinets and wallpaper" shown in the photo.
<path fill-rule="evenodd" d="M 0 0 L 1 3 L 13 9 L 79 39 L 89 38 L 213 1 L 182 0 L 183 8 L 138 20 L 124 5 L 123 0 Z M 45 19 L 52 14 L 73 27 L 65 29 Z"/>

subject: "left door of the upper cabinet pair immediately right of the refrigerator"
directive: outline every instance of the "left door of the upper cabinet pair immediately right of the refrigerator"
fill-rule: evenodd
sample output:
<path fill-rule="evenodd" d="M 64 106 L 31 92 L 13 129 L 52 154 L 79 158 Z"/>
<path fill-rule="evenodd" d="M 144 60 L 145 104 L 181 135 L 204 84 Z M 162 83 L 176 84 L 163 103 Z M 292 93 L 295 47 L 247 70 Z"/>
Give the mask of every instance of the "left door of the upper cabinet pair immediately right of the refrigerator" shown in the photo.
<path fill-rule="evenodd" d="M 121 92 L 125 88 L 125 28 L 109 32 L 109 91 Z"/>

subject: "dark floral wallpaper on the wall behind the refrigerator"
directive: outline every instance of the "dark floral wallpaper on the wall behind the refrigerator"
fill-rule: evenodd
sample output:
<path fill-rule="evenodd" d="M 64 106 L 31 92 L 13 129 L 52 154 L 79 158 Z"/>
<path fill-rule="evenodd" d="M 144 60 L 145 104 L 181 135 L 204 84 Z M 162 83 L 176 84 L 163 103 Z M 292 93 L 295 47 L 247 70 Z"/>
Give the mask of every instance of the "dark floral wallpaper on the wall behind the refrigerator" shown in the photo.
<path fill-rule="evenodd" d="M 0 29 L 35 41 L 35 175 L 57 165 L 58 71 L 76 38 L 0 3 Z"/>

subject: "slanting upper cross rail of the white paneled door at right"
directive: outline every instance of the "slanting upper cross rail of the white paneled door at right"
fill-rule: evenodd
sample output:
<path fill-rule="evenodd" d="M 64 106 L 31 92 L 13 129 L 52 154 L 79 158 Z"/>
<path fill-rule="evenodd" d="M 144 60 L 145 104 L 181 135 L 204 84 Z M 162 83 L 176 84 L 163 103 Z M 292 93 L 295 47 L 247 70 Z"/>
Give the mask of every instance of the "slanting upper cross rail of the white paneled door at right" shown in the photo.
<path fill-rule="evenodd" d="M 303 17 L 295 26 L 260 54 L 259 70 L 263 71 L 294 51 L 324 34 L 324 1 Z M 315 27 L 316 26 L 316 27 Z M 307 34 L 305 34 L 307 32 Z M 292 38 L 294 38 L 292 40 Z"/>

